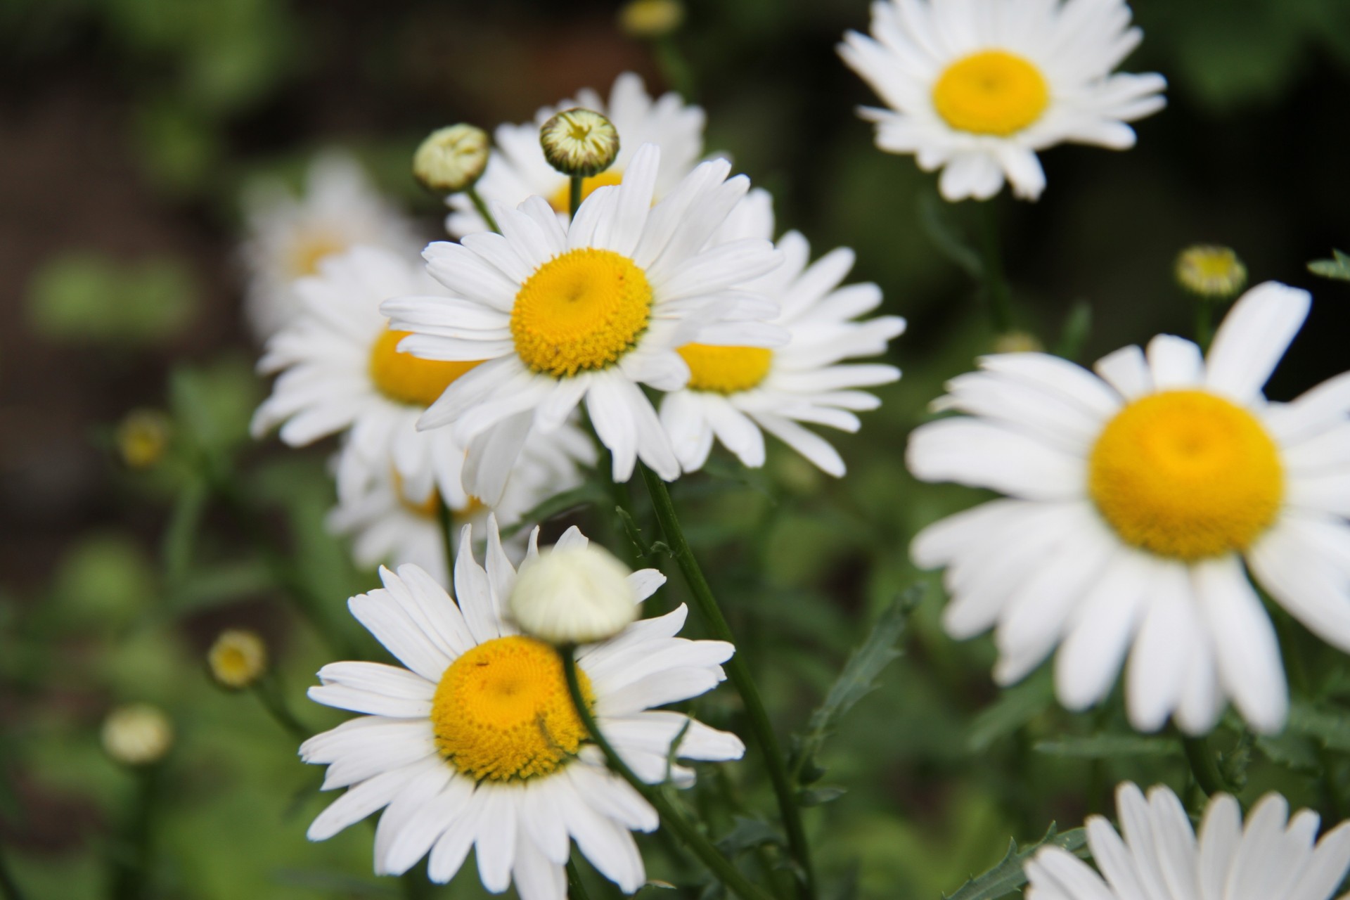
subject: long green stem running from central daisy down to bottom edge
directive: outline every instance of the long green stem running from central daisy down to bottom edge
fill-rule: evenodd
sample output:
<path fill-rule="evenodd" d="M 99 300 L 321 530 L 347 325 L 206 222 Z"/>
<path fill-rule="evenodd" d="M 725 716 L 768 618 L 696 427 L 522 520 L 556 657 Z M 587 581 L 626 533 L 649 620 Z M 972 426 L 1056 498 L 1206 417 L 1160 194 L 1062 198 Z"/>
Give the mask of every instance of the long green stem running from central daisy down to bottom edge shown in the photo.
<path fill-rule="evenodd" d="M 684 540 L 684 532 L 680 529 L 679 517 L 675 514 L 675 505 L 671 502 L 671 494 L 666 487 L 666 482 L 656 472 L 647 468 L 647 466 L 639 463 L 639 468 L 641 468 L 643 480 L 652 495 L 652 505 L 656 507 L 656 521 L 662 525 L 662 534 L 666 537 L 666 544 L 671 548 L 671 555 L 675 557 L 675 563 L 688 583 L 695 604 L 711 626 L 714 637 L 734 645 L 736 638 L 732 636 L 732 629 L 726 623 L 721 607 L 717 604 L 717 598 L 713 596 L 713 590 L 707 586 L 707 579 L 703 578 L 703 569 L 699 568 L 698 560 L 694 559 L 694 552 L 690 549 L 688 541 Z M 745 657 L 736 653 L 725 663 L 725 668 L 726 675 L 732 679 L 732 684 L 736 685 L 736 691 L 745 703 L 751 730 L 760 745 L 760 753 L 764 757 L 768 777 L 778 797 L 779 814 L 783 819 L 783 827 L 787 831 L 788 851 L 802 872 L 803 884 L 801 885 L 801 893 L 809 900 L 815 896 L 815 872 L 811 868 L 811 853 L 810 845 L 806 841 L 806 828 L 802 827 L 802 814 L 796 807 L 796 793 L 792 791 L 792 781 L 787 775 L 787 764 L 784 762 L 778 735 L 774 733 L 774 723 L 768 718 L 768 710 L 764 707 L 764 700 L 755 685 L 749 667 L 745 664 Z"/>

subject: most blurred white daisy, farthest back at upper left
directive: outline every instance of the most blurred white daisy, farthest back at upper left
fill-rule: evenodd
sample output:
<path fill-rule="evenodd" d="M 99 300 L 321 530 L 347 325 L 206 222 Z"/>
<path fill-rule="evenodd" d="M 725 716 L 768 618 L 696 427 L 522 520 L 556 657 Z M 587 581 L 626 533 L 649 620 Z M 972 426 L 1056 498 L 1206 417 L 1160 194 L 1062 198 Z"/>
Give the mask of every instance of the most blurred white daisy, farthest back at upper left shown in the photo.
<path fill-rule="evenodd" d="M 305 193 L 279 181 L 261 181 L 244 194 L 248 270 L 244 313 L 258 340 L 281 331 L 300 313 L 297 278 L 319 271 L 319 260 L 356 244 L 413 255 L 427 243 L 412 221 L 389 204 L 344 152 L 320 154 L 309 165 Z"/>

